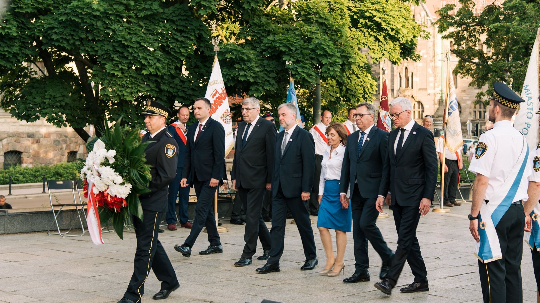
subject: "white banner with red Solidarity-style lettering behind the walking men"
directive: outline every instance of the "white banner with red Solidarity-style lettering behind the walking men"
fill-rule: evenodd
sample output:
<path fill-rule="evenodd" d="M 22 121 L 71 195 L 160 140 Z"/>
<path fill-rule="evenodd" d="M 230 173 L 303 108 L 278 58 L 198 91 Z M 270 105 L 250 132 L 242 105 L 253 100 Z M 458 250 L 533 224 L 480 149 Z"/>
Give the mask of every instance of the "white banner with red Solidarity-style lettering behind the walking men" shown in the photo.
<path fill-rule="evenodd" d="M 233 126 L 231 118 L 231 108 L 227 92 L 225 92 L 225 82 L 221 76 L 221 67 L 219 66 L 218 57 L 214 58 L 214 66 L 212 74 L 208 80 L 205 98 L 210 100 L 210 115 L 212 119 L 219 121 L 225 128 L 225 156 L 227 156 L 234 147 Z"/>

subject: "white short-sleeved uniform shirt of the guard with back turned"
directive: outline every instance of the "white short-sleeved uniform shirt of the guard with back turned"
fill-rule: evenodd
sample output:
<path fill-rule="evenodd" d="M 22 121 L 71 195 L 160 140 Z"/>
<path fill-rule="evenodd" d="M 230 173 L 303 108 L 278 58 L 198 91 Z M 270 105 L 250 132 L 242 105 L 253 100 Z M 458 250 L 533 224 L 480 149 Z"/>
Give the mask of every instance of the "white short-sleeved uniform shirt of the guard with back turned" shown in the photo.
<path fill-rule="evenodd" d="M 473 157 L 473 161 L 471 161 L 469 171 L 489 178 L 484 200 L 490 201 L 495 192 L 497 192 L 507 180 L 521 154 L 523 140 L 523 134 L 512 127 L 509 120 L 497 121 L 492 129 L 483 133 L 478 138 L 475 156 Z M 484 143 L 487 147 L 483 150 L 479 150 L 481 148 L 479 145 L 483 146 L 483 144 L 480 143 Z M 535 151 L 529 151 L 529 159 L 531 159 L 531 153 L 534 154 Z M 479 157 L 477 157 L 478 154 L 480 154 Z M 534 159 L 534 157 L 532 159 Z M 527 162 L 532 163 L 532 160 L 528 160 Z M 531 168 L 531 165 L 525 167 L 514 202 L 527 200 L 527 179 L 532 173 Z"/>

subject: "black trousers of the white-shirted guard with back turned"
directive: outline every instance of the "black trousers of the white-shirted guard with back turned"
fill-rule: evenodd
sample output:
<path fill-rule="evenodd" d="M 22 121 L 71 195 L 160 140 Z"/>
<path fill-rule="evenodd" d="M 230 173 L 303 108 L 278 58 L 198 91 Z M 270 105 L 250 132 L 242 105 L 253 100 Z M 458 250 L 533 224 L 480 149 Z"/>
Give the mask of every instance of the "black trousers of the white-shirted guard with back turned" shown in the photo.
<path fill-rule="evenodd" d="M 524 226 L 525 215 L 522 204 L 510 205 L 501 221 L 495 226 L 503 257 L 488 263 L 478 260 L 484 302 L 523 301 L 521 258 Z"/>

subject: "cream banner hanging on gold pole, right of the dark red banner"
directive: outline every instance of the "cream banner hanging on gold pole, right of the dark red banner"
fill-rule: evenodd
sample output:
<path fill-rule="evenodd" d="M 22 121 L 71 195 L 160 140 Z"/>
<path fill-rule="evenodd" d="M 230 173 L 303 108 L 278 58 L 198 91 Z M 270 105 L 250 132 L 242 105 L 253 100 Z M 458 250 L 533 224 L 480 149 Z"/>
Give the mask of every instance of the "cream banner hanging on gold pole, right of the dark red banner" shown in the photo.
<path fill-rule="evenodd" d="M 456 87 L 448 68 L 448 98 L 444 107 L 443 125 L 446 125 L 446 147 L 455 153 L 463 146 L 463 133 L 461 132 L 460 112 L 458 111 Z"/>

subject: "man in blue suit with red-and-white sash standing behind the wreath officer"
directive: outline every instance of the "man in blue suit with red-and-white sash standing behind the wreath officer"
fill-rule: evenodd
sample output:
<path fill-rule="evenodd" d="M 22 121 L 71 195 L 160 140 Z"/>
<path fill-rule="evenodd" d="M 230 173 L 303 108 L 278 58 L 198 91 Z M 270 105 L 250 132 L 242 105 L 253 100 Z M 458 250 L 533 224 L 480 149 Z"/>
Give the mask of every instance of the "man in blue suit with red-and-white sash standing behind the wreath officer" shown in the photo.
<path fill-rule="evenodd" d="M 180 226 L 183 228 L 191 228 L 191 222 L 187 221 L 187 203 L 190 200 L 190 188 L 181 187 L 180 179 L 182 177 L 182 169 L 184 168 L 184 154 L 187 143 L 187 120 L 190 119 L 190 110 L 187 106 L 181 106 L 178 108 L 176 114 L 178 121 L 169 125 L 168 132 L 173 136 L 174 140 L 178 144 L 178 164 L 176 166 L 176 177 L 169 184 L 168 193 L 168 210 L 167 210 L 167 229 L 176 230 L 176 199 L 178 198 L 178 215 L 180 216 Z M 188 183 L 190 181 L 187 181 Z"/>

